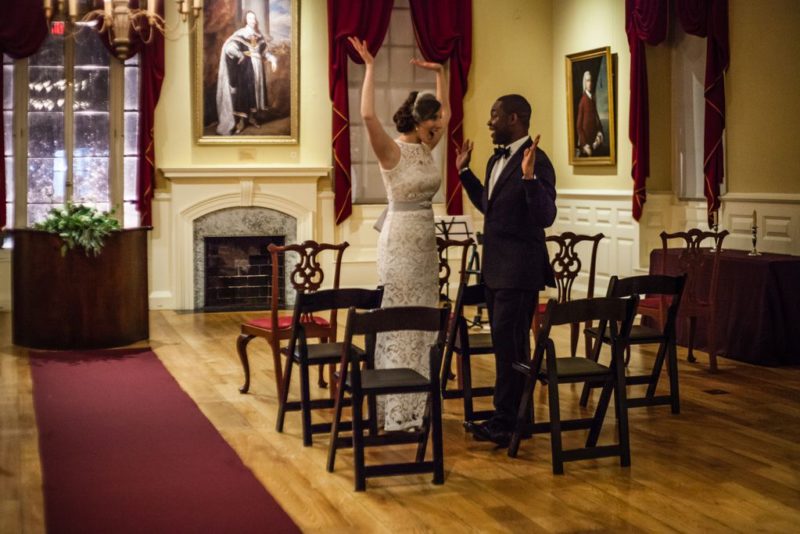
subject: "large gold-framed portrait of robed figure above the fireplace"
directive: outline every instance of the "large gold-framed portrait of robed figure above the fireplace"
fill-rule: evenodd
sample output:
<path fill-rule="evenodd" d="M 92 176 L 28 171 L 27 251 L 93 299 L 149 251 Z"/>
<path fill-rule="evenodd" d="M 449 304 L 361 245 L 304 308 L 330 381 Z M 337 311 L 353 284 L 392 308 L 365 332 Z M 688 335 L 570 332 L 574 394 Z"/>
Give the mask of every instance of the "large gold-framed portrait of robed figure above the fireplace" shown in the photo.
<path fill-rule="evenodd" d="M 194 21 L 200 144 L 298 142 L 300 0 L 205 0 Z"/>

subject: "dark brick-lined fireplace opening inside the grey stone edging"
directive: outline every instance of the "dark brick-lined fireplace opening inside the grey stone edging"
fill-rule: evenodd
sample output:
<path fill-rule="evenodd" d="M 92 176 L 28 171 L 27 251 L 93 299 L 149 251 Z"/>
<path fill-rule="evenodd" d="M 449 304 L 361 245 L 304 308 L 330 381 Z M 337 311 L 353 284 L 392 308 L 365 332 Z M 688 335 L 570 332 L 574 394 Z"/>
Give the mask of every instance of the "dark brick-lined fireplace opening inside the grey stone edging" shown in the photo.
<path fill-rule="evenodd" d="M 272 284 L 278 284 L 278 306 L 286 307 L 285 268 L 279 258 L 278 280 L 272 280 L 267 246 L 283 245 L 283 236 L 205 237 L 205 311 L 265 310 Z"/>

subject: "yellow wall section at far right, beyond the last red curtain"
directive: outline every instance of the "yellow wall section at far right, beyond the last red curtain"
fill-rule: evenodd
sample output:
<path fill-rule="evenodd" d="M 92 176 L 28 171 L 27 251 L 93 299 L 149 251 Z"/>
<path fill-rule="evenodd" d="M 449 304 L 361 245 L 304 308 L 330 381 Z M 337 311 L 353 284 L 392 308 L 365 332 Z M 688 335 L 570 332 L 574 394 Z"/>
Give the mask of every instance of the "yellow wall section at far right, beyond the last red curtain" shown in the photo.
<path fill-rule="evenodd" d="M 728 190 L 800 193 L 800 2 L 729 1 Z"/>

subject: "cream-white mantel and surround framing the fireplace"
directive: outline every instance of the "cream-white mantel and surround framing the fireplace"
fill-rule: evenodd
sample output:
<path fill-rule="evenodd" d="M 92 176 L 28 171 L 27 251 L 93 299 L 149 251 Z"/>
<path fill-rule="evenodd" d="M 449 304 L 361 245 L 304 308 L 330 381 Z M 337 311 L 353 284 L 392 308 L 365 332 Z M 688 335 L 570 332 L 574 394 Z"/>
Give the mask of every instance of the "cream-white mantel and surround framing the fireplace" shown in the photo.
<path fill-rule="evenodd" d="M 202 223 L 209 214 L 244 218 L 270 214 L 290 231 L 287 243 L 332 239 L 326 235 L 325 225 L 322 230 L 316 227 L 320 219 L 332 220 L 333 193 L 323 190 L 329 167 L 191 167 L 163 168 L 161 172 L 170 188 L 167 194 L 157 195 L 157 213 L 168 224 L 161 226 L 165 232 L 152 243 L 153 308 L 198 307 L 195 223 L 198 219 Z M 252 227 L 247 221 L 231 224 L 229 235 L 242 235 Z"/>

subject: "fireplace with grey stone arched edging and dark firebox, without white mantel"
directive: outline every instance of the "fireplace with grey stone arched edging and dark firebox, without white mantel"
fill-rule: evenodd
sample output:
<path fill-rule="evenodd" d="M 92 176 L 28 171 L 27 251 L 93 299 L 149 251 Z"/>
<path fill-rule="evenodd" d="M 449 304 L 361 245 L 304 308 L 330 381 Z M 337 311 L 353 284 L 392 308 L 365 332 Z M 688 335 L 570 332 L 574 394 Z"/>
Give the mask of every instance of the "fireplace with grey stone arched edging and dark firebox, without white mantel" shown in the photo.
<path fill-rule="evenodd" d="M 193 227 L 194 309 L 267 309 L 273 283 L 267 246 L 296 242 L 297 220 L 269 208 L 236 207 L 198 217 Z M 296 259 L 278 266 L 282 307 L 294 303 L 294 292 L 285 289 L 285 273 L 294 264 L 286 261 Z"/>

